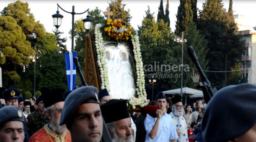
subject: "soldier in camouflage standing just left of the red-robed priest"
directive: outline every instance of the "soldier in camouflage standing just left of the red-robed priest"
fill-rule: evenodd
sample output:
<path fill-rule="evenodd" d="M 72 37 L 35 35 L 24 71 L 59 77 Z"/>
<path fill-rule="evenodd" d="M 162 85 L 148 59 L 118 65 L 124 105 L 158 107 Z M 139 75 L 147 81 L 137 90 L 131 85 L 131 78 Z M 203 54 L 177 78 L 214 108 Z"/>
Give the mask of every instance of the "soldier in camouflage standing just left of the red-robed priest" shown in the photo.
<path fill-rule="evenodd" d="M 29 131 L 29 136 L 33 135 L 48 123 L 48 120 L 44 116 L 45 107 L 42 96 L 37 98 L 35 104 L 38 106 L 37 110 L 27 116 L 27 130 Z"/>

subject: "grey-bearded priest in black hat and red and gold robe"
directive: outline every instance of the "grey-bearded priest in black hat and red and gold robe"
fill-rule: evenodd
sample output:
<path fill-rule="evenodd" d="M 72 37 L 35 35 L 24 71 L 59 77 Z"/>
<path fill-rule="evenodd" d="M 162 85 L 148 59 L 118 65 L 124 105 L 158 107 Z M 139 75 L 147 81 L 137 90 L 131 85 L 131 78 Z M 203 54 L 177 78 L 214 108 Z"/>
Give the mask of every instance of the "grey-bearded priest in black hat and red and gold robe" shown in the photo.
<path fill-rule="evenodd" d="M 45 106 L 44 114 L 48 119 L 48 124 L 33 134 L 29 142 L 71 142 L 71 135 L 66 125 L 59 125 L 65 100 L 64 92 L 64 89 L 56 88 L 42 95 Z"/>

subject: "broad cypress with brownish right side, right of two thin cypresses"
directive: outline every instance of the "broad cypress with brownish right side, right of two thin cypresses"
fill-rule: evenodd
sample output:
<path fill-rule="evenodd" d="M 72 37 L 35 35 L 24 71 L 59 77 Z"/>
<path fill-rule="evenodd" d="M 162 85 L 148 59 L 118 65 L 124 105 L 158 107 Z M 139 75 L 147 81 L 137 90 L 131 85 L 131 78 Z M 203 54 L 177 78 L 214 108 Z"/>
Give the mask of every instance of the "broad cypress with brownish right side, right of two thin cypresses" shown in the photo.
<path fill-rule="evenodd" d="M 177 21 L 175 34 L 188 31 L 188 24 L 193 21 L 193 11 L 191 9 L 191 0 L 180 0 L 180 5 L 177 12 Z"/>

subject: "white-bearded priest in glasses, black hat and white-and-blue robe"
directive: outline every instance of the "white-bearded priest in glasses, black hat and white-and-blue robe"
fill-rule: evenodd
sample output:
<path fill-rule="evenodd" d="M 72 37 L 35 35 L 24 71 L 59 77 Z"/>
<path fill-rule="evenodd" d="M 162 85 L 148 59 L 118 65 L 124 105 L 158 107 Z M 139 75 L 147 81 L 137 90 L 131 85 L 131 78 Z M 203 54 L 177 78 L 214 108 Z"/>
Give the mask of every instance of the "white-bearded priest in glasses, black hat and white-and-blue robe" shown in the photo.
<path fill-rule="evenodd" d="M 179 137 L 179 142 L 188 141 L 188 129 L 185 118 L 183 117 L 184 109 L 181 102 L 181 96 L 174 96 L 172 99 L 172 113 L 169 115 L 172 117 L 176 132 Z"/>

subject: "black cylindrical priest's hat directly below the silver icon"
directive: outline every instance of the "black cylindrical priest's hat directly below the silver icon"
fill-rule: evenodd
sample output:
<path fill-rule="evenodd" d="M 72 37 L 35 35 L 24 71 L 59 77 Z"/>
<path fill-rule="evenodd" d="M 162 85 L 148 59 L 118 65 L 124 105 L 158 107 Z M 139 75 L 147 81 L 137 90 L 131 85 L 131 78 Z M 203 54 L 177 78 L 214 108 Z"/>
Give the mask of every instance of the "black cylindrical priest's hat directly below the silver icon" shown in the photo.
<path fill-rule="evenodd" d="M 106 123 L 115 122 L 129 118 L 127 101 L 123 99 L 112 99 L 101 105 L 101 114 Z"/>

